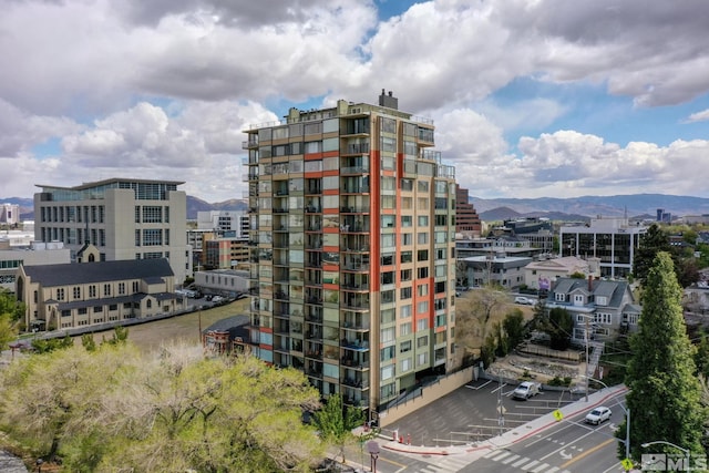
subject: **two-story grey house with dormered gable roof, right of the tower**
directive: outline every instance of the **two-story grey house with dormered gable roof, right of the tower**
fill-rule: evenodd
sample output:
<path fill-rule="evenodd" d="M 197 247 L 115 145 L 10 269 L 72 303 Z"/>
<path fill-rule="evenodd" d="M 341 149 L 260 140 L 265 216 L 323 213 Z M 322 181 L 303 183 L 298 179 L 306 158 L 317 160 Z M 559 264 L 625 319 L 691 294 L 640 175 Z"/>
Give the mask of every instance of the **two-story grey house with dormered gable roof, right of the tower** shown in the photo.
<path fill-rule="evenodd" d="M 549 290 L 546 307 L 564 308 L 574 318 L 572 343 L 586 342 L 586 328 L 592 340 L 614 340 L 637 330 L 641 308 L 635 304 L 626 281 L 558 278 Z"/>

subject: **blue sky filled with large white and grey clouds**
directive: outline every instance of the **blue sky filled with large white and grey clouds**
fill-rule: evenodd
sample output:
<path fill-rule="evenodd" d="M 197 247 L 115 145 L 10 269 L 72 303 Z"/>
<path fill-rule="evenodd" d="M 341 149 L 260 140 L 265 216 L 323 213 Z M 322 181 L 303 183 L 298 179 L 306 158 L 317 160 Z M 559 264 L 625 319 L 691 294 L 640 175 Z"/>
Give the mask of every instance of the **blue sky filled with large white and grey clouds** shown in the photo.
<path fill-rule="evenodd" d="M 473 196 L 709 197 L 707 24 L 703 0 L 11 2 L 0 198 L 145 176 L 240 198 L 248 125 L 382 89 Z"/>

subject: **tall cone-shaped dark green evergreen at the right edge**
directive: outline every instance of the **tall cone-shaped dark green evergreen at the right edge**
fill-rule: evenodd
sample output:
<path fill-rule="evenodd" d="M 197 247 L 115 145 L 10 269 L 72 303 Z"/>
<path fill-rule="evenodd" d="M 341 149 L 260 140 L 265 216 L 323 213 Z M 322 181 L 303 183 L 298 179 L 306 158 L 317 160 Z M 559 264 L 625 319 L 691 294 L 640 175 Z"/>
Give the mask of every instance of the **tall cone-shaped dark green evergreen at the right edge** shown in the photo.
<path fill-rule="evenodd" d="M 630 455 L 639 460 L 641 444 L 664 440 L 703 454 L 701 387 L 696 377 L 695 349 L 686 333 L 681 288 L 670 255 L 660 251 L 646 278 L 638 331 L 630 337 L 627 405 L 633 413 Z M 617 432 L 625 433 L 625 423 Z M 618 433 L 618 435 L 621 435 Z M 624 435 L 623 435 L 624 436 Z M 625 454 L 625 445 L 618 448 Z M 677 453 L 665 445 L 653 452 Z"/>

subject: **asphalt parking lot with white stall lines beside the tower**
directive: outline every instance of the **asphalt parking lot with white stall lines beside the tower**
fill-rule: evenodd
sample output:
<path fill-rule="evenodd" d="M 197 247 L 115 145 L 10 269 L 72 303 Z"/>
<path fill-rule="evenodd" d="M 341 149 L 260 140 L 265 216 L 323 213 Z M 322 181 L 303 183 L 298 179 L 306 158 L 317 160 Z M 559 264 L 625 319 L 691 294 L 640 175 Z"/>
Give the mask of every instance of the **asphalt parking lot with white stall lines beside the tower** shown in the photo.
<path fill-rule="evenodd" d="M 427 446 L 463 445 L 489 439 L 503 431 L 578 400 L 569 391 L 544 390 L 528 400 L 511 397 L 517 384 L 480 379 L 388 425 L 411 444 Z M 499 409 L 500 407 L 500 409 Z"/>

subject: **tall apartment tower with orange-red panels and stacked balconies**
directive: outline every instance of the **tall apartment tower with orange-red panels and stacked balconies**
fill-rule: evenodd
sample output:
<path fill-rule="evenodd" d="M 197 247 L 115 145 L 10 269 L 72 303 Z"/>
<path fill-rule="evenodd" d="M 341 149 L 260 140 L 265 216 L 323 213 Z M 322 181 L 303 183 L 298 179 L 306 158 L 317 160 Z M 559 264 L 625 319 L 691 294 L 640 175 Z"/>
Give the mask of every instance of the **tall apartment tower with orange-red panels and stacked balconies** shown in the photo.
<path fill-rule="evenodd" d="M 370 412 L 455 358 L 454 168 L 397 106 L 291 109 L 244 143 L 254 352 Z"/>

